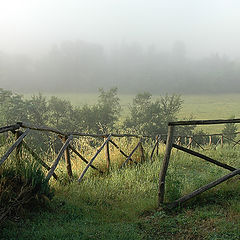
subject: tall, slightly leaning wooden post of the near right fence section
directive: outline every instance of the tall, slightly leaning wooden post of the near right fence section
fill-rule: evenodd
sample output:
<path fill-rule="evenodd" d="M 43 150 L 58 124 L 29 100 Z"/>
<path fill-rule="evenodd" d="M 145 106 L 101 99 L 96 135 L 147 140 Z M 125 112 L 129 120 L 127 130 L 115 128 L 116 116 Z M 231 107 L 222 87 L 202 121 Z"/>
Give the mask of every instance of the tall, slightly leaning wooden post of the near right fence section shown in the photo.
<path fill-rule="evenodd" d="M 168 126 L 168 136 L 167 136 L 167 143 L 166 143 L 166 152 L 164 156 L 164 160 L 162 163 L 162 168 L 159 174 L 159 188 L 158 188 L 158 207 L 163 204 L 164 201 L 164 193 L 165 193 L 165 177 L 167 174 L 169 159 L 172 150 L 173 144 L 173 132 L 174 126 Z"/>

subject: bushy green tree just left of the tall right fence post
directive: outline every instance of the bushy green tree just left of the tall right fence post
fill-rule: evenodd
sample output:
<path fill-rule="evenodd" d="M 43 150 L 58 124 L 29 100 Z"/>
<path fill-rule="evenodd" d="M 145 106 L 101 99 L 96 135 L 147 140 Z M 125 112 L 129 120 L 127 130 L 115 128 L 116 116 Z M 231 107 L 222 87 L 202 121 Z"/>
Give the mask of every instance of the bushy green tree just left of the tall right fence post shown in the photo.
<path fill-rule="evenodd" d="M 130 105 L 124 127 L 144 135 L 165 134 L 167 123 L 176 120 L 181 106 L 179 95 L 165 95 L 154 101 L 150 93 L 139 93 Z"/>

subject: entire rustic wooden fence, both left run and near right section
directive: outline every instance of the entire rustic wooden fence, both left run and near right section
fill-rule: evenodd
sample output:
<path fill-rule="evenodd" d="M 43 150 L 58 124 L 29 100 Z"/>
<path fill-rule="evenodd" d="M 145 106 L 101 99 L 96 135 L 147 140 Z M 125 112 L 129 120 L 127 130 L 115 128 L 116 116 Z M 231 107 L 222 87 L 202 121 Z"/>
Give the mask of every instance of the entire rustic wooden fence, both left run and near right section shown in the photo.
<path fill-rule="evenodd" d="M 225 175 L 224 177 L 211 182 L 207 184 L 206 186 L 203 186 L 196 191 L 174 201 L 173 203 L 170 203 L 172 207 L 175 207 L 188 199 L 193 198 L 194 196 L 226 181 L 227 179 L 240 174 L 240 169 L 236 169 L 232 166 L 229 166 L 227 164 L 221 163 L 217 160 L 214 160 L 208 156 L 205 156 L 202 153 L 193 151 L 191 149 L 192 143 L 195 141 L 195 144 L 204 149 L 203 146 L 198 143 L 194 138 L 196 136 L 204 136 L 204 137 L 209 137 L 209 145 L 212 144 L 211 138 L 212 136 L 218 136 L 219 141 L 221 146 L 223 145 L 223 138 L 226 136 L 222 134 L 212 134 L 212 135 L 196 135 L 196 136 L 174 136 L 174 129 L 176 126 L 180 125 L 205 125 L 205 124 L 224 124 L 224 123 L 240 123 L 240 119 L 231 119 L 231 120 L 204 120 L 204 121 L 180 121 L 180 122 L 169 122 L 168 124 L 168 134 L 167 135 L 157 135 L 155 137 L 155 144 L 153 146 L 153 149 L 151 150 L 150 153 L 150 159 L 152 160 L 154 153 L 156 155 L 159 154 L 159 144 L 160 142 L 166 143 L 166 152 L 164 156 L 164 160 L 162 163 L 162 168 L 161 172 L 159 175 L 159 190 L 158 190 L 158 206 L 163 206 L 164 203 L 164 194 L 165 194 L 165 177 L 167 174 L 167 169 L 169 165 L 169 160 L 170 160 L 170 155 L 171 155 L 171 149 L 176 148 L 180 151 L 186 152 L 188 154 L 191 154 L 193 156 L 197 156 L 205 161 L 211 162 L 219 167 L 228 169 L 231 171 L 231 173 Z M 64 133 L 61 132 L 57 129 L 50 128 L 50 127 L 36 127 L 32 126 L 26 123 L 18 122 L 17 124 L 11 125 L 11 126 L 5 126 L 0 128 L 0 133 L 8 132 L 11 131 L 15 136 L 16 136 L 16 141 L 10 146 L 10 148 L 7 150 L 7 152 L 1 157 L 0 159 L 0 166 L 6 161 L 6 159 L 9 157 L 9 155 L 13 152 L 14 149 L 16 149 L 16 157 L 19 157 L 19 153 L 21 148 L 24 148 L 26 151 L 28 151 L 33 158 L 38 161 L 45 169 L 47 169 L 47 176 L 46 176 L 46 181 L 49 181 L 51 177 L 55 178 L 56 180 L 58 179 L 58 176 L 55 173 L 55 170 L 59 164 L 60 159 L 64 156 L 65 162 L 66 162 L 66 168 L 67 168 L 67 173 L 69 178 L 73 177 L 72 173 L 72 166 L 71 166 L 71 159 L 70 159 L 70 150 L 72 153 L 76 154 L 84 163 L 86 163 L 86 167 L 83 170 L 83 172 L 80 174 L 78 178 L 78 182 L 81 182 L 84 175 L 88 171 L 88 169 L 91 167 L 92 169 L 101 172 L 97 167 L 93 165 L 94 160 L 96 157 L 99 155 L 103 149 L 105 149 L 105 158 L 106 158 L 106 166 L 107 170 L 109 170 L 110 165 L 111 165 L 111 157 L 110 157 L 110 150 L 109 150 L 109 145 L 111 144 L 113 147 L 118 149 L 118 151 L 125 157 L 125 161 L 122 163 L 121 168 L 125 167 L 129 162 L 136 163 L 136 161 L 133 159 L 133 154 L 136 152 L 137 149 L 140 150 L 141 154 L 141 161 L 145 160 L 145 150 L 143 148 L 143 141 L 144 139 L 151 138 L 153 139 L 152 136 L 140 136 L 137 134 L 87 134 L 87 133 L 78 133 L 78 132 L 70 132 L 70 133 Z M 51 166 L 49 166 L 47 163 L 45 163 L 39 155 L 31 149 L 31 147 L 26 143 L 24 138 L 29 135 L 31 131 L 41 131 L 41 132 L 51 132 L 56 134 L 62 141 L 62 147 L 60 151 L 57 154 L 57 157 L 55 161 L 52 163 Z M 238 133 L 236 133 L 238 134 Z M 94 138 L 101 138 L 104 139 L 103 144 L 100 146 L 100 148 L 97 149 L 96 153 L 92 156 L 92 158 L 88 161 L 79 151 L 77 151 L 76 148 L 71 144 L 73 139 L 76 137 L 94 137 Z M 133 148 L 133 150 L 127 154 L 125 153 L 113 140 L 114 137 L 131 137 L 131 138 L 137 138 L 137 144 Z M 165 138 L 166 141 L 165 141 Z M 181 143 L 181 138 L 188 139 L 188 144 L 186 146 L 182 146 Z M 227 138 L 227 137 L 226 137 Z M 187 142 L 187 141 L 185 141 Z M 240 141 L 234 141 L 234 146 L 240 144 Z M 101 172 L 102 173 L 102 172 Z"/>

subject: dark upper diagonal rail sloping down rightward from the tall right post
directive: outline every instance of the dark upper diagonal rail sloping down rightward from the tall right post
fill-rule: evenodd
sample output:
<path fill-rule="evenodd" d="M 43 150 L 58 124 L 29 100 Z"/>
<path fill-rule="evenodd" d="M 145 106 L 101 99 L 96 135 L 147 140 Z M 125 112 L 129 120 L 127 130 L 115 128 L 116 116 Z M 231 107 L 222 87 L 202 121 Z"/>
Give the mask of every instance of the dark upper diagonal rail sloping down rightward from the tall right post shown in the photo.
<path fill-rule="evenodd" d="M 183 152 L 186 152 L 188 154 L 191 154 L 191 155 L 193 155 L 195 157 L 199 157 L 199 158 L 201 158 L 203 160 L 206 160 L 208 162 L 211 162 L 211 163 L 213 163 L 213 164 L 215 164 L 215 165 L 217 165 L 219 167 L 225 168 L 227 170 L 230 170 L 230 171 L 235 171 L 236 170 L 236 168 L 234 168 L 234 167 L 231 167 L 231 166 L 229 166 L 229 165 L 227 165 L 225 163 L 221 163 L 221 162 L 219 162 L 217 160 L 214 160 L 214 159 L 212 159 L 210 157 L 207 157 L 207 156 L 205 156 L 205 155 L 203 155 L 201 153 L 195 152 L 195 151 L 193 151 L 191 149 L 188 149 L 188 148 L 176 145 L 176 144 L 173 144 L 172 147 L 174 147 L 174 148 L 176 148 L 178 150 L 181 150 Z"/>

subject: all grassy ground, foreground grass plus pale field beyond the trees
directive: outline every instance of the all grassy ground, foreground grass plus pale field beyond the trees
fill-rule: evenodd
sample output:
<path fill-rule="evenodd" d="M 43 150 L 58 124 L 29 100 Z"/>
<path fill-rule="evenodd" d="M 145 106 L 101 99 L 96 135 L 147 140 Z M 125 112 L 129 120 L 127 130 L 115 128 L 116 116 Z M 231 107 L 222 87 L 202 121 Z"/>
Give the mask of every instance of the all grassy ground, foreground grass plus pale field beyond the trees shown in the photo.
<path fill-rule="evenodd" d="M 69 100 L 76 106 L 94 104 L 97 100 L 97 94 L 46 96 L 52 95 Z M 184 103 L 179 119 L 190 116 L 193 119 L 221 119 L 233 115 L 240 117 L 240 96 L 237 94 L 183 95 L 182 98 Z M 124 115 L 133 95 L 120 95 L 120 99 Z M 216 133 L 221 131 L 221 127 L 205 127 L 204 130 Z M 126 153 L 130 153 L 136 145 L 136 142 L 129 143 L 126 139 L 117 143 Z M 239 176 L 187 201 L 183 206 L 171 210 L 157 209 L 158 178 L 165 146 L 160 146 L 159 155 L 154 155 L 151 161 L 149 155 L 153 145 L 152 141 L 144 143 L 144 162 L 123 169 L 119 169 L 124 161 L 123 156 L 115 148 L 110 148 L 109 172 L 106 171 L 104 152 L 101 152 L 94 165 L 104 174 L 89 169 L 81 183 L 77 179 L 86 165 L 72 155 L 74 180 L 69 181 L 66 166 L 61 161 L 56 169 L 59 181 L 50 181 L 53 199 L 47 199 L 43 205 L 22 209 L 18 216 L 4 221 L 0 228 L 0 239 L 239 240 Z M 7 147 L 2 146 L 1 155 Z M 95 148 L 88 149 L 84 145 L 83 149 L 87 159 L 96 151 Z M 225 143 L 223 147 L 206 146 L 205 150 L 195 150 L 235 168 L 240 167 L 239 146 L 233 148 Z M 56 154 L 43 154 L 42 158 L 51 165 Z M 2 171 L 4 168 L 8 170 L 5 177 L 12 172 L 9 171 L 11 164 L 15 166 L 14 156 L 12 154 L 11 160 L 3 165 Z M 24 161 L 33 161 L 26 153 L 23 156 Z M 133 158 L 139 158 L 137 152 Z M 22 168 L 22 171 L 25 169 Z M 172 202 L 228 173 L 226 169 L 173 150 L 166 176 L 165 201 Z M 6 178 L 0 178 L 0 186 L 5 182 Z"/>

